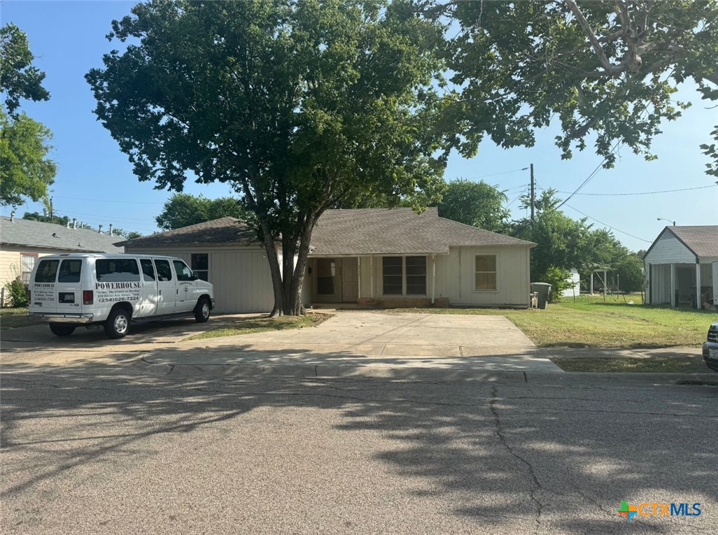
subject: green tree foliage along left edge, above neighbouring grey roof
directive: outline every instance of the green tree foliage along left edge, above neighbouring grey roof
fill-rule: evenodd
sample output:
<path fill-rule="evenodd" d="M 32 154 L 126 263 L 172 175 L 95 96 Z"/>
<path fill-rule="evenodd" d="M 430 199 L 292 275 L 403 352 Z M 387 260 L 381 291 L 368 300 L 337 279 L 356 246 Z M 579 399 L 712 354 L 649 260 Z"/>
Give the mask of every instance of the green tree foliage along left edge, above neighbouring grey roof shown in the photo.
<path fill-rule="evenodd" d="M 32 65 L 27 36 L 14 24 L 0 28 L 0 206 L 47 198 L 57 166 L 48 157 L 50 130 L 19 112 L 20 100 L 47 100 L 45 73 Z"/>

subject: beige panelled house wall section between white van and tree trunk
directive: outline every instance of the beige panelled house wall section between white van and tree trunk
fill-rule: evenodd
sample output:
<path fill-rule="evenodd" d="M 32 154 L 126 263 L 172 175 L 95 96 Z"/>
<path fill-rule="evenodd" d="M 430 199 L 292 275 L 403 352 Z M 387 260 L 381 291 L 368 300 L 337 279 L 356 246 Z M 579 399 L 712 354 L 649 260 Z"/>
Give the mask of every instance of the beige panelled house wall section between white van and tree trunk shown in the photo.
<path fill-rule="evenodd" d="M 210 282 L 217 313 L 269 312 L 274 306 L 264 252 L 211 252 Z"/>

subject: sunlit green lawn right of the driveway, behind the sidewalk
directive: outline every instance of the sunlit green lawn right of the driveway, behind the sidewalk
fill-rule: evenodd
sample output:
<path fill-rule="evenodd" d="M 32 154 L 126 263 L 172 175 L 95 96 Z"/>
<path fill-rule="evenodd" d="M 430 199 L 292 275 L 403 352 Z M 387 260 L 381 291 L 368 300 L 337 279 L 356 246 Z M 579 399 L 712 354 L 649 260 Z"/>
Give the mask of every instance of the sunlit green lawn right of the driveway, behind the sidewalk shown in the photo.
<path fill-rule="evenodd" d="M 633 300 L 635 304 L 629 305 Z M 698 346 L 714 311 L 643 306 L 640 295 L 616 298 L 581 296 L 549 303 L 546 310 L 496 308 L 396 308 L 393 312 L 498 314 L 516 324 L 541 347 L 624 347 L 630 349 Z"/>

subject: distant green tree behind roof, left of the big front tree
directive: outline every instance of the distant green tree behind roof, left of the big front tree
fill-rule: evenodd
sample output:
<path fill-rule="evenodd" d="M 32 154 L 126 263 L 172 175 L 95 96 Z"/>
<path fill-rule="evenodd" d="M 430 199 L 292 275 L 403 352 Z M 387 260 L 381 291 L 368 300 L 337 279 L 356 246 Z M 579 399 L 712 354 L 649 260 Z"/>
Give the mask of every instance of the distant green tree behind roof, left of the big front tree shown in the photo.
<path fill-rule="evenodd" d="M 172 230 L 226 216 L 236 217 L 244 222 L 253 219 L 251 212 L 237 199 L 208 199 L 202 195 L 188 193 L 176 193 L 169 197 L 162 207 L 162 212 L 154 219 L 160 229 Z"/>

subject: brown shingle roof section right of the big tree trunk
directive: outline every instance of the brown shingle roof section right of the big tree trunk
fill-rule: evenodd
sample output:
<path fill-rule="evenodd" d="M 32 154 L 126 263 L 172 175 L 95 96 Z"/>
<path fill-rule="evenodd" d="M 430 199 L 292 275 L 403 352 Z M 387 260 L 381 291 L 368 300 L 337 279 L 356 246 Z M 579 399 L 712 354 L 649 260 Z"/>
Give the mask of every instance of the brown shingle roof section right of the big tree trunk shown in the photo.
<path fill-rule="evenodd" d="M 310 256 L 406 255 L 449 252 L 458 245 L 521 245 L 532 242 L 439 217 L 436 208 L 327 210 L 312 232 Z"/>

